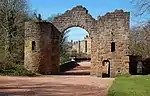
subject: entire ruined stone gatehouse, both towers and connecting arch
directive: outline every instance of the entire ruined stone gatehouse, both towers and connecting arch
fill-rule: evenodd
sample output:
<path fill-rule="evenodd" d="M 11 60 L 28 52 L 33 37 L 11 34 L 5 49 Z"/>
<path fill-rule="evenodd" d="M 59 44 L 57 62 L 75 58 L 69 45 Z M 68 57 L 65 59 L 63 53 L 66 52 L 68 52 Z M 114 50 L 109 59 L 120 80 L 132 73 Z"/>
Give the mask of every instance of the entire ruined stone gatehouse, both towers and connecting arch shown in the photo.
<path fill-rule="evenodd" d="M 52 23 L 27 22 L 25 68 L 42 74 L 59 73 L 59 36 L 70 27 L 81 27 L 91 38 L 91 75 L 128 74 L 129 17 L 129 12 L 115 10 L 95 20 L 86 8 L 76 6 Z"/>

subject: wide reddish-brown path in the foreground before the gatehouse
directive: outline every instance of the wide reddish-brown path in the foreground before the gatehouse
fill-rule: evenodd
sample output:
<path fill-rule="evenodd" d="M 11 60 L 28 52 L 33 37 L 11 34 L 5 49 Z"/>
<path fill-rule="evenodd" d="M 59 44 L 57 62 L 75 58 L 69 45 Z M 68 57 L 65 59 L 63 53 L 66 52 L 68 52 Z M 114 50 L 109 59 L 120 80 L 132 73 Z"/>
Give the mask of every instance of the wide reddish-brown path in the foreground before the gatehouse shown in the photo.
<path fill-rule="evenodd" d="M 107 96 L 113 78 L 0 76 L 0 96 Z"/>

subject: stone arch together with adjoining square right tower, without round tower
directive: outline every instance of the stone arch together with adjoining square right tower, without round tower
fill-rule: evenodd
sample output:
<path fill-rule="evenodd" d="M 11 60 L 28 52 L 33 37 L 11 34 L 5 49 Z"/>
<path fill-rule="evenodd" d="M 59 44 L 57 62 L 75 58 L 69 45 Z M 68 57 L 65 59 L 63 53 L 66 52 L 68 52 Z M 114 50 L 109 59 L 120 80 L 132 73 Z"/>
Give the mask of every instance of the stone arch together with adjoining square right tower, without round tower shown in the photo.
<path fill-rule="evenodd" d="M 109 60 L 110 76 L 114 77 L 129 71 L 129 15 L 129 12 L 116 10 L 95 20 L 86 8 L 77 6 L 56 17 L 53 24 L 60 32 L 74 26 L 85 29 L 91 38 L 91 75 L 102 76 L 102 62 Z M 114 52 L 111 52 L 112 42 Z"/>

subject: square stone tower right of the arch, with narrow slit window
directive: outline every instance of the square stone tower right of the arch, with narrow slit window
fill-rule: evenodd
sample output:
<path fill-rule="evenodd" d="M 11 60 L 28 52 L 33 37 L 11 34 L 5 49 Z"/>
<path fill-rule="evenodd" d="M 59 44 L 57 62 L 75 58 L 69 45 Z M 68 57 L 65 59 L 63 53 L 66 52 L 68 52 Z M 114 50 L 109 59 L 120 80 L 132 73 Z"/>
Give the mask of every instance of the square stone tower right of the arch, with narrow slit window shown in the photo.
<path fill-rule="evenodd" d="M 129 72 L 128 36 L 129 12 L 116 10 L 99 17 L 98 31 L 98 70 L 102 70 L 102 61 L 110 61 L 110 76 Z M 111 43 L 115 43 L 115 51 L 111 52 Z M 101 75 L 99 71 L 96 75 Z"/>

